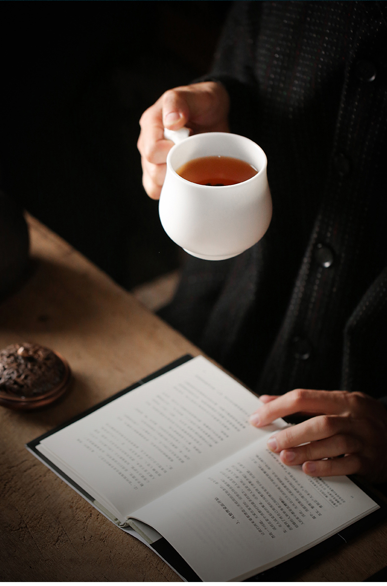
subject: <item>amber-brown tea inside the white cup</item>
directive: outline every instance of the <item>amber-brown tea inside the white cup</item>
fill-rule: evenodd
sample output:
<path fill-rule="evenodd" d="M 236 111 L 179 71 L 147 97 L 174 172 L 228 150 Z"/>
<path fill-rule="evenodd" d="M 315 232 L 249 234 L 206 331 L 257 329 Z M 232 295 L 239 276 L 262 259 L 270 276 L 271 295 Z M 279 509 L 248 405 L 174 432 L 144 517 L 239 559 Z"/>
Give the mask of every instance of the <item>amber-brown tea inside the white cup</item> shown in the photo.
<path fill-rule="evenodd" d="M 241 159 L 233 156 L 199 156 L 181 165 L 176 170 L 183 179 L 198 183 L 198 185 L 212 185 L 220 187 L 235 185 L 251 179 L 258 171 Z"/>

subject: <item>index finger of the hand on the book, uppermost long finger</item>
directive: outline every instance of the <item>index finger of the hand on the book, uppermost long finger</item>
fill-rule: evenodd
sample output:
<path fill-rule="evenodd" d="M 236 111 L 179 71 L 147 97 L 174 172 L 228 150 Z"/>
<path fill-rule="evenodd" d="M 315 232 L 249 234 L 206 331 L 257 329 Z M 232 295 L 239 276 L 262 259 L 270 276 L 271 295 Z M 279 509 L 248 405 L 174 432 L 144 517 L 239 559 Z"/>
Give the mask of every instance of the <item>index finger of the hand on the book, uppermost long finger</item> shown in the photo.
<path fill-rule="evenodd" d="M 260 407 L 251 423 L 256 427 L 269 425 L 278 417 L 300 413 L 340 414 L 347 408 L 350 393 L 295 389 Z"/>

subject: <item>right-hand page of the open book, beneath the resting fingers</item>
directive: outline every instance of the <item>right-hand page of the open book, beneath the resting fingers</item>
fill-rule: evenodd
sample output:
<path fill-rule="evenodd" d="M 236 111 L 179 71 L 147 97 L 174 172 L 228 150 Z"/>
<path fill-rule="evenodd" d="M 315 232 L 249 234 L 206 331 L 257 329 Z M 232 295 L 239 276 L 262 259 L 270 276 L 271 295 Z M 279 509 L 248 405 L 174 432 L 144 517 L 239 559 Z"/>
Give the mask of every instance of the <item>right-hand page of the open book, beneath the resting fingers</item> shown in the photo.
<path fill-rule="evenodd" d="M 378 505 L 346 476 L 312 478 L 256 441 L 134 513 L 203 581 L 244 580 Z M 195 544 L 195 547 L 193 547 Z"/>

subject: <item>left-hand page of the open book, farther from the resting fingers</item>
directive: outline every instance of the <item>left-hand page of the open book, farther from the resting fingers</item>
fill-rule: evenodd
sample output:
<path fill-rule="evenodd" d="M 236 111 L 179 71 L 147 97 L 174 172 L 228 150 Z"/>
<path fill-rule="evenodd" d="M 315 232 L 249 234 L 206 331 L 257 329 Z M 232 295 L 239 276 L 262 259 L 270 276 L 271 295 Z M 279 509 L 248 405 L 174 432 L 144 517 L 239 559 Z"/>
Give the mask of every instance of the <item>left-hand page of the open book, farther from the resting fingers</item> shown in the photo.
<path fill-rule="evenodd" d="M 148 381 L 37 449 L 124 522 L 134 510 L 257 437 L 260 400 L 202 356 Z"/>

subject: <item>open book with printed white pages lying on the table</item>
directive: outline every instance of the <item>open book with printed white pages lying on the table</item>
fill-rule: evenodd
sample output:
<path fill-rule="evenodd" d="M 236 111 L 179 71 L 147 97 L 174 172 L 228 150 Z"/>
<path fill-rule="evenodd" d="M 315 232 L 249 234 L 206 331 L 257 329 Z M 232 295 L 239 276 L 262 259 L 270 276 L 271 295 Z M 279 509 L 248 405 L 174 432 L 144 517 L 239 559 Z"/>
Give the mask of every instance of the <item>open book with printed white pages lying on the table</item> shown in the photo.
<path fill-rule="evenodd" d="M 282 464 L 266 442 L 284 420 L 252 427 L 253 393 L 202 356 L 179 362 L 27 448 L 189 581 L 252 577 L 378 509 L 345 476 Z"/>

